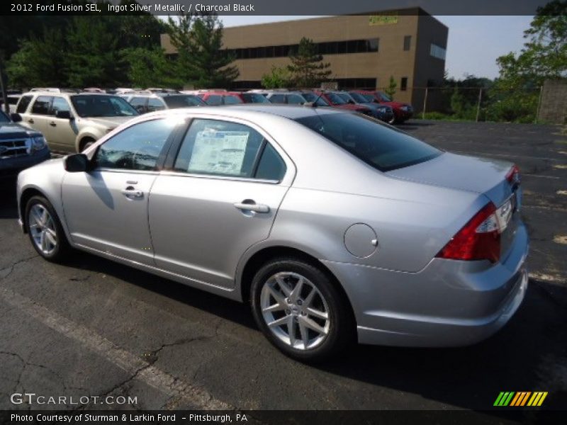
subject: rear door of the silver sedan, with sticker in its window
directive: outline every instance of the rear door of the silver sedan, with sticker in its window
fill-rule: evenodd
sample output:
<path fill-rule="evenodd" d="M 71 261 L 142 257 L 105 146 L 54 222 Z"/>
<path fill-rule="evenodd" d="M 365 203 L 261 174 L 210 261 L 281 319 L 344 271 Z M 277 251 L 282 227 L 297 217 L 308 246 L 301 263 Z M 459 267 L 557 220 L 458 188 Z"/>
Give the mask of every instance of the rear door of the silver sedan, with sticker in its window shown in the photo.
<path fill-rule="evenodd" d="M 156 265 L 232 288 L 238 261 L 269 236 L 293 179 L 284 157 L 254 125 L 194 119 L 172 170 L 162 171 L 150 193 Z"/>

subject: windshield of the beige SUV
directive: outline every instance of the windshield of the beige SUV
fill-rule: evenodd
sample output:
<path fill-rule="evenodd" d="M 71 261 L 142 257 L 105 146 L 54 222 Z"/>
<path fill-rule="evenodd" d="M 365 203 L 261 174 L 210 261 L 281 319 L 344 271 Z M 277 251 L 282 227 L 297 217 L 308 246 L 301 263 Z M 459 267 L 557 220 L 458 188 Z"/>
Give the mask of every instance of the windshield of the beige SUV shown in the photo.
<path fill-rule="evenodd" d="M 79 95 L 71 101 L 80 117 L 132 117 L 140 115 L 123 98 L 118 96 Z"/>

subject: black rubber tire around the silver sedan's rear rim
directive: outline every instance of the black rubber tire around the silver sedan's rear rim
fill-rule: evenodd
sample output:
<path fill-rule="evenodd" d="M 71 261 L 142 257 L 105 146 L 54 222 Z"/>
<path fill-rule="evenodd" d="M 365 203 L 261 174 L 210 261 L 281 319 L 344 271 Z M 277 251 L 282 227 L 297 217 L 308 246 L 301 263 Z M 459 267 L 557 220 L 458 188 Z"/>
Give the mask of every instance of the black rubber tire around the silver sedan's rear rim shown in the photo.
<path fill-rule="evenodd" d="M 266 324 L 262 314 L 262 288 L 267 284 L 271 276 L 274 276 L 276 273 L 286 272 L 297 273 L 307 278 L 318 289 L 327 303 L 328 317 L 330 317 L 329 329 L 322 342 L 314 348 L 293 348 L 281 341 Z M 336 288 L 335 283 L 327 276 L 327 273 L 314 264 L 292 257 L 282 257 L 265 263 L 254 275 L 250 298 L 252 314 L 254 314 L 254 319 L 259 329 L 262 330 L 264 336 L 271 344 L 291 358 L 308 363 L 316 363 L 337 356 L 356 341 L 356 323 L 345 296 Z"/>

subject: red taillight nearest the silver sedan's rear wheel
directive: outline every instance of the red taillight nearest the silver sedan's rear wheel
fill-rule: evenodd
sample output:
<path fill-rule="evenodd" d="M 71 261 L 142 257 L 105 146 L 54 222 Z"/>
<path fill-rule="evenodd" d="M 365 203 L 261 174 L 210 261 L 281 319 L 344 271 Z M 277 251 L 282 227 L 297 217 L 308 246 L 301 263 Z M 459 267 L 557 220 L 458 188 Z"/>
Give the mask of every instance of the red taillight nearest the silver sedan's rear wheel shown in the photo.
<path fill-rule="evenodd" d="M 439 251 L 437 257 L 453 260 L 500 259 L 501 225 L 493 203 L 478 211 L 464 227 Z"/>

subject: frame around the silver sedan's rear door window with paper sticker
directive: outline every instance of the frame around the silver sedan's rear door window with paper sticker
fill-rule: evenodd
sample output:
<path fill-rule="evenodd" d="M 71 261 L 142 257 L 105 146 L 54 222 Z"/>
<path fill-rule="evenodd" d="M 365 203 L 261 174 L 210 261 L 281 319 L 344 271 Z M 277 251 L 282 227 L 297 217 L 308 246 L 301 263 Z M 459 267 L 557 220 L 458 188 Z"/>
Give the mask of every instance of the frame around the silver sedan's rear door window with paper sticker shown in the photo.
<path fill-rule="evenodd" d="M 248 182 L 255 182 L 255 183 L 269 183 L 269 184 L 278 184 L 282 186 L 291 186 L 293 183 L 293 179 L 296 177 L 296 164 L 293 160 L 289 157 L 287 152 L 283 150 L 283 148 L 274 140 L 274 137 L 271 137 L 269 132 L 264 130 L 264 128 L 260 127 L 256 123 L 252 123 L 252 121 L 243 119 L 243 118 L 236 118 L 227 115 L 213 115 L 213 114 L 201 114 L 201 113 L 191 113 L 191 115 L 185 115 L 186 123 L 179 129 L 178 135 L 176 139 L 172 142 L 172 145 L 169 147 L 169 152 L 167 153 L 167 158 L 165 159 L 164 166 L 160 171 L 160 174 L 168 175 L 168 176 L 186 176 L 186 177 L 198 177 L 201 179 L 219 179 L 219 180 L 234 180 L 234 181 L 248 181 Z M 254 177 L 241 177 L 241 176 L 220 176 L 218 174 L 193 174 L 188 173 L 185 171 L 176 171 L 174 169 L 175 162 L 177 157 L 179 156 L 179 152 L 181 151 L 181 145 L 183 144 L 184 138 L 193 123 L 193 120 L 220 120 L 220 121 L 227 121 L 229 123 L 247 125 L 248 127 L 252 128 L 253 130 L 259 132 L 262 137 L 264 137 L 264 142 L 269 143 L 274 150 L 279 154 L 283 163 L 286 165 L 286 173 L 283 174 L 281 180 L 265 180 L 265 179 L 254 179 Z M 265 144 L 264 144 L 265 149 Z M 262 149 L 262 153 L 264 150 Z M 261 155 L 257 155 L 257 159 L 259 159 Z M 256 165 L 256 164 L 254 164 Z M 255 171 L 255 170 L 254 170 Z"/>

